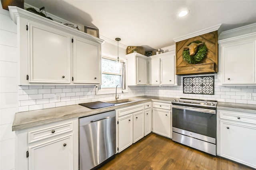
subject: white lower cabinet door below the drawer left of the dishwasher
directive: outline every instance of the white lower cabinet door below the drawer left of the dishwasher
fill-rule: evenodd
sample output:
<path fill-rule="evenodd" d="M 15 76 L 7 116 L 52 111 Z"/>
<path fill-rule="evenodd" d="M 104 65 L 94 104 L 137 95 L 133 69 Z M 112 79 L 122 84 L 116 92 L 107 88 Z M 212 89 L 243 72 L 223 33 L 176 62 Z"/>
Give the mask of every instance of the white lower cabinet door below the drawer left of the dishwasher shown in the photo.
<path fill-rule="evenodd" d="M 74 170 L 73 136 L 29 147 L 29 170 Z"/>

